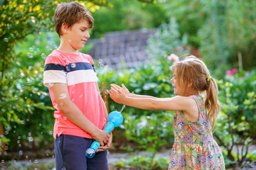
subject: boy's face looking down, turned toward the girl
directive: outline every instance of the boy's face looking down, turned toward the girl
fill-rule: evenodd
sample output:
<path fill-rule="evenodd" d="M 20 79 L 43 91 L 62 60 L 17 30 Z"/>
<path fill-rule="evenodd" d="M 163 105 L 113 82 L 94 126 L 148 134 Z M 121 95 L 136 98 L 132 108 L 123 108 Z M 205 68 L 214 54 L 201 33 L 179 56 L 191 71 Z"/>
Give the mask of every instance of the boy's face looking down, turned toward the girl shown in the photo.
<path fill-rule="evenodd" d="M 68 39 L 70 47 L 74 50 L 82 49 L 87 39 L 90 38 L 89 30 L 90 25 L 87 20 L 82 20 L 68 28 L 65 38 Z"/>

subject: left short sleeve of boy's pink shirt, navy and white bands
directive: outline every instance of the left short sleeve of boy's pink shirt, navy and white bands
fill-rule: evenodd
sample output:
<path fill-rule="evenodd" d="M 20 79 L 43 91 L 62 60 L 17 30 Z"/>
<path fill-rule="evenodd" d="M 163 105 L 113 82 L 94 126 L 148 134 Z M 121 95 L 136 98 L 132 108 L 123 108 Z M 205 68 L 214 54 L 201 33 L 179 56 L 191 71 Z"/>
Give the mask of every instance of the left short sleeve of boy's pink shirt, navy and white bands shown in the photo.
<path fill-rule="evenodd" d="M 51 87 L 53 83 L 67 84 L 65 67 L 58 60 L 58 57 L 48 56 L 43 72 L 43 85 Z"/>

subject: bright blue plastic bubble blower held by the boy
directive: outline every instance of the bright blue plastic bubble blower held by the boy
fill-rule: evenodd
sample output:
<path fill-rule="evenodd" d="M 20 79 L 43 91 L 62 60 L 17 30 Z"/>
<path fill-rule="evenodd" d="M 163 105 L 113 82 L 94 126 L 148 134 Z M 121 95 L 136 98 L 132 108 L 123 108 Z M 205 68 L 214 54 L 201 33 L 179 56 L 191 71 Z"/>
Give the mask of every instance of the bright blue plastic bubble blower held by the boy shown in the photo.
<path fill-rule="evenodd" d="M 118 127 L 119 125 L 122 125 L 122 122 L 124 120 L 121 112 L 124 110 L 125 105 L 122 106 L 122 110 L 120 112 L 118 111 L 112 111 L 108 116 L 107 116 L 107 123 L 104 127 L 104 131 L 107 133 L 112 132 L 115 127 Z M 92 142 L 90 147 L 86 150 L 85 156 L 88 158 L 92 158 L 95 156 L 95 153 L 97 149 L 100 147 L 100 142 L 97 142 L 96 140 Z"/>

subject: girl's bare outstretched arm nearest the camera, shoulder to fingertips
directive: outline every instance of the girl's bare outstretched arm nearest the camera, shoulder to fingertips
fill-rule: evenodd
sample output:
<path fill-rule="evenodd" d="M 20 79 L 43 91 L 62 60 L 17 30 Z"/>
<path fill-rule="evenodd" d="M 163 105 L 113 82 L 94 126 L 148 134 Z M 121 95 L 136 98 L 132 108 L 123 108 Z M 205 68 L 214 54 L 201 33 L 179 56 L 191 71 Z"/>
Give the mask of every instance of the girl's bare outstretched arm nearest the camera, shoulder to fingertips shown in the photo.
<path fill-rule="evenodd" d="M 156 98 L 153 96 L 130 94 L 122 84 L 122 88 L 111 84 L 110 97 L 117 103 L 146 110 L 183 111 L 188 120 L 195 122 L 199 118 L 198 106 L 191 97 L 175 96 L 173 98 Z"/>

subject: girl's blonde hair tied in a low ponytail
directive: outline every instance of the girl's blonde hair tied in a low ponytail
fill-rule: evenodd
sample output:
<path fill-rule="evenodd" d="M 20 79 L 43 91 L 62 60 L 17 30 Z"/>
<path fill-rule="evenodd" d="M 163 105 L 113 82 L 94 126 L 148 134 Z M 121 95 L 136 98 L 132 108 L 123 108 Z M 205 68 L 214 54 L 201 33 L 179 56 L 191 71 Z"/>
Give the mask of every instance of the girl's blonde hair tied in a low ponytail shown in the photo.
<path fill-rule="evenodd" d="M 211 129 L 215 128 L 215 120 L 220 111 L 220 102 L 218 101 L 218 86 L 213 78 L 210 77 L 210 72 L 206 64 L 197 57 L 190 55 L 180 62 L 176 62 L 172 66 L 172 71 L 178 77 L 179 84 L 186 86 L 192 83 L 193 89 L 200 93 L 206 91 L 205 106 L 208 111 L 208 119 Z"/>

